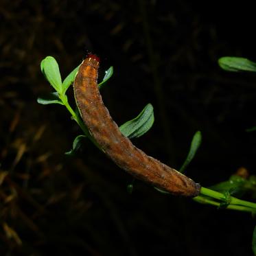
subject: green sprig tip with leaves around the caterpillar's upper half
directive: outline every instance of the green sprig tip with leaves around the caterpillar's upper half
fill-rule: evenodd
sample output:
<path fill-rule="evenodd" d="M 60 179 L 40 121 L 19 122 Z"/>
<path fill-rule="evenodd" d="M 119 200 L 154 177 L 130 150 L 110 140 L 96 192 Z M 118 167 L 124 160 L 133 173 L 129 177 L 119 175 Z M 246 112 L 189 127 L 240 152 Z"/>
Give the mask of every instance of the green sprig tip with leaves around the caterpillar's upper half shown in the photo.
<path fill-rule="evenodd" d="M 58 67 L 58 62 L 55 60 L 54 57 L 47 56 L 42 62 L 41 62 L 41 71 L 44 73 L 45 77 L 47 78 L 48 82 L 51 84 L 51 86 L 56 89 L 54 93 L 49 93 L 49 95 L 45 97 L 38 97 L 37 102 L 39 104 L 61 104 L 66 106 L 67 110 L 69 110 L 69 113 L 71 113 L 72 119 L 74 119 L 80 128 L 84 131 L 84 135 L 78 135 L 73 141 L 73 148 L 69 152 L 66 152 L 65 154 L 67 155 L 73 155 L 75 152 L 78 152 L 80 149 L 84 138 L 88 137 L 91 139 L 93 143 L 97 146 L 97 143 L 91 137 L 90 133 L 88 132 L 88 129 L 86 126 L 83 124 L 79 111 L 73 110 L 71 106 L 69 106 L 69 102 L 67 99 L 67 95 L 65 94 L 67 92 L 67 89 L 69 89 L 69 86 L 73 83 L 75 80 L 75 75 L 78 73 L 78 67 L 73 69 L 69 75 L 67 75 L 67 78 L 61 82 L 61 77 L 60 77 L 60 70 Z M 99 88 L 102 88 L 104 84 L 110 79 L 110 77 L 113 75 L 113 67 L 110 67 L 102 80 L 100 82 Z M 153 111 L 153 106 L 151 104 L 148 104 L 141 113 L 135 117 L 135 119 L 132 119 L 130 121 L 127 121 L 125 124 L 123 124 L 120 127 L 121 132 L 123 133 L 124 136 L 128 138 L 135 138 L 135 137 L 140 137 L 144 133 L 148 132 L 150 128 L 152 127 L 154 123 L 154 111 Z"/>

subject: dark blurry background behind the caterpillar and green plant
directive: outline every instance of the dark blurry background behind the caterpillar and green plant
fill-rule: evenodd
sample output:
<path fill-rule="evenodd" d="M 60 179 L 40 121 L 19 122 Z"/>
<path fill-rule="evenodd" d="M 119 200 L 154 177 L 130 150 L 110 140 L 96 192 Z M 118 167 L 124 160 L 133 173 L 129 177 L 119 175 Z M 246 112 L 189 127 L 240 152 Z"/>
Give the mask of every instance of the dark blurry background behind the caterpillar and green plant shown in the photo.
<path fill-rule="evenodd" d="M 114 67 L 102 97 L 117 124 L 154 106 L 154 126 L 133 140 L 139 148 L 178 168 L 201 130 L 188 176 L 207 187 L 240 166 L 255 174 L 256 136 L 245 129 L 256 124 L 256 76 L 218 67 L 222 56 L 256 60 L 254 10 L 224 1 L 1 0 L 0 254 L 252 255 L 249 213 L 140 181 L 128 194 L 132 177 L 89 141 L 64 155 L 81 131 L 64 107 L 36 98 L 53 91 L 40 73 L 45 56 L 65 78 L 92 51 L 100 78 Z"/>

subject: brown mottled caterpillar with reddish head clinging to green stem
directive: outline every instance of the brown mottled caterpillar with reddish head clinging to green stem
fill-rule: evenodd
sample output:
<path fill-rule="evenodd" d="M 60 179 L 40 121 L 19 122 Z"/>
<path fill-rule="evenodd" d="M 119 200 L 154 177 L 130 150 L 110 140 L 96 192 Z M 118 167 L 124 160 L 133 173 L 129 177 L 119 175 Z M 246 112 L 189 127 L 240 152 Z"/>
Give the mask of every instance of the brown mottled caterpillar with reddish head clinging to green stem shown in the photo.
<path fill-rule="evenodd" d="M 198 196 L 200 184 L 148 156 L 121 134 L 97 86 L 100 59 L 89 54 L 75 76 L 74 92 L 82 119 L 98 145 L 121 169 L 174 195 Z"/>

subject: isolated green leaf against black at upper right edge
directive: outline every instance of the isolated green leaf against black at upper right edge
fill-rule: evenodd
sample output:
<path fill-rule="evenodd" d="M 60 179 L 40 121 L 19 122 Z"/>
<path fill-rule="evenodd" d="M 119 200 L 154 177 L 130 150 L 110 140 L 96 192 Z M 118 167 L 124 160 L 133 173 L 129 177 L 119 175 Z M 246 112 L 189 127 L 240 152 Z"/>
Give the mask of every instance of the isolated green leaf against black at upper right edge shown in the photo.
<path fill-rule="evenodd" d="M 251 71 L 256 72 L 256 63 L 246 58 L 222 57 L 218 60 L 219 65 L 226 71 Z"/>

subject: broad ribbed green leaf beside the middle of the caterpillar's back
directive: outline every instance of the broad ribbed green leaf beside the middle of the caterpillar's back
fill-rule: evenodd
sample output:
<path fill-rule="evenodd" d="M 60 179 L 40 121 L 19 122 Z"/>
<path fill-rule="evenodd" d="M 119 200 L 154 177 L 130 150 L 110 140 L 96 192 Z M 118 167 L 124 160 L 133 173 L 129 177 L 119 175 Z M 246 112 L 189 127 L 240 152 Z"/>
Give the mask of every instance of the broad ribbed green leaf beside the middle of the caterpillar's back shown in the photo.
<path fill-rule="evenodd" d="M 154 110 L 153 106 L 148 104 L 135 119 L 122 124 L 119 129 L 124 136 L 132 139 L 134 137 L 141 137 L 141 135 L 150 130 L 153 124 Z"/>

